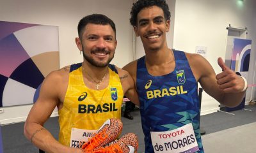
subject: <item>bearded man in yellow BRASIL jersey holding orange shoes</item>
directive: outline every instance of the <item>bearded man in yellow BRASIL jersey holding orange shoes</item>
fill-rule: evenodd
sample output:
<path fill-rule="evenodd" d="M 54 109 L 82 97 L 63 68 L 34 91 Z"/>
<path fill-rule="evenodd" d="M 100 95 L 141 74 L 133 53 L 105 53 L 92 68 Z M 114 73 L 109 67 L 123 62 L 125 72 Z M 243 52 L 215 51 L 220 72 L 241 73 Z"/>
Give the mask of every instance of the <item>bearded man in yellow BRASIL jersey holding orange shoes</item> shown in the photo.
<path fill-rule="evenodd" d="M 117 45 L 114 22 L 93 14 L 82 18 L 77 29 L 76 45 L 84 61 L 45 78 L 24 126 L 26 137 L 45 152 L 83 152 L 77 148 L 106 120 L 121 118 L 124 94 L 138 102 L 129 73 L 109 64 Z M 43 127 L 56 106 L 59 142 Z"/>

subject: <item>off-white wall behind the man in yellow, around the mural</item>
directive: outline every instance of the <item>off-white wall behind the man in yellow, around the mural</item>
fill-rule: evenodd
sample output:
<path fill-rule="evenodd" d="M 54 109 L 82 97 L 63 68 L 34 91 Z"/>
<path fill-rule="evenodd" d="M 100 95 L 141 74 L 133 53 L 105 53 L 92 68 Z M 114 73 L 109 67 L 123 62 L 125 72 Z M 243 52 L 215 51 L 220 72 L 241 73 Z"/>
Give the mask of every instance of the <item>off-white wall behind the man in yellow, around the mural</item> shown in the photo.
<path fill-rule="evenodd" d="M 0 20 L 58 26 L 60 67 L 63 67 L 83 61 L 75 43 L 79 20 L 91 13 L 103 13 L 116 24 L 118 45 L 111 63 L 122 68 L 132 61 L 131 4 L 131 0 L 0 0 Z M 0 113 L 1 124 L 26 120 L 30 108 L 31 105 L 5 107 L 4 113 Z"/>

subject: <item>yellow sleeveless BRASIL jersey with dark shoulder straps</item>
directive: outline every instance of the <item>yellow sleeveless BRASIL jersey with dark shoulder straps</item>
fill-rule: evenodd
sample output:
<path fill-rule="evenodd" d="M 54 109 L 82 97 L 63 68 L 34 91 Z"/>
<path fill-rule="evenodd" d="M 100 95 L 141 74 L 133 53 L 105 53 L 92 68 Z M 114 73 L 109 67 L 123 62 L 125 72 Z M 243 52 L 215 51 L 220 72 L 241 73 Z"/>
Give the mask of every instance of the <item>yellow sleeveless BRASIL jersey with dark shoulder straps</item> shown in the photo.
<path fill-rule="evenodd" d="M 58 110 L 61 144 L 81 148 L 107 119 L 121 118 L 124 92 L 115 66 L 108 68 L 108 87 L 96 91 L 84 85 L 81 63 L 70 66 L 63 107 Z"/>

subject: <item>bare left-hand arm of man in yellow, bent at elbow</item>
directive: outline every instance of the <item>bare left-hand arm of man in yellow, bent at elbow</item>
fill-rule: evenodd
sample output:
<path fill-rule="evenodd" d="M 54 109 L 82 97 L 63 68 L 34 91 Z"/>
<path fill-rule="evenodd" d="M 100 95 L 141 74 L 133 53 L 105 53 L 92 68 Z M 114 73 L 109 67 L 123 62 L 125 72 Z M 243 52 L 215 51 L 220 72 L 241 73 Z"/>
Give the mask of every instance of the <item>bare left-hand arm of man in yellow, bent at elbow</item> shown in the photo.
<path fill-rule="evenodd" d="M 60 103 L 61 71 L 50 73 L 44 80 L 40 89 L 40 96 L 31 108 L 24 125 L 24 135 L 36 147 L 45 152 L 81 152 L 80 149 L 71 149 L 61 145 L 51 133 L 44 128 L 52 111 Z"/>

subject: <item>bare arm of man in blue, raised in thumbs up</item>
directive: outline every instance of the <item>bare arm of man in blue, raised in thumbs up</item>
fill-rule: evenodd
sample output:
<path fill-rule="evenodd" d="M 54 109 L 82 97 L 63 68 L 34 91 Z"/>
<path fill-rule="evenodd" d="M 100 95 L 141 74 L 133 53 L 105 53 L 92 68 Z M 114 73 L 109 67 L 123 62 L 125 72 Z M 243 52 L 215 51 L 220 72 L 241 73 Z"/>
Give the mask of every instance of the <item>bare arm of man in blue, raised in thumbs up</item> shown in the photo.
<path fill-rule="evenodd" d="M 234 107 L 241 103 L 245 93 L 241 92 L 244 81 L 227 68 L 223 61 L 220 66 L 225 66 L 225 71 L 216 75 L 211 64 L 201 55 L 187 54 L 187 57 L 196 80 L 207 94 L 225 106 Z"/>

